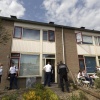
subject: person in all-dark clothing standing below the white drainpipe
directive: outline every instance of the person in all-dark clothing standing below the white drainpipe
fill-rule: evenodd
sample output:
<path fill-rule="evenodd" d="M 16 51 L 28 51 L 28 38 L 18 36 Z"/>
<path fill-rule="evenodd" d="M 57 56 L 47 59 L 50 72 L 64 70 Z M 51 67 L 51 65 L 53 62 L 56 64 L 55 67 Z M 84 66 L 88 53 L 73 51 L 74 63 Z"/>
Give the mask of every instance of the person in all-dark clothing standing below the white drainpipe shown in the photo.
<path fill-rule="evenodd" d="M 61 86 L 61 89 L 62 89 L 63 92 L 64 92 L 64 82 L 63 82 L 63 80 L 65 81 L 67 92 L 70 92 L 69 91 L 68 76 L 67 76 L 68 72 L 69 72 L 69 70 L 68 70 L 67 65 L 63 64 L 63 62 L 60 61 L 60 64 L 58 65 L 58 74 L 59 74 L 59 77 L 60 77 L 60 86 Z"/>

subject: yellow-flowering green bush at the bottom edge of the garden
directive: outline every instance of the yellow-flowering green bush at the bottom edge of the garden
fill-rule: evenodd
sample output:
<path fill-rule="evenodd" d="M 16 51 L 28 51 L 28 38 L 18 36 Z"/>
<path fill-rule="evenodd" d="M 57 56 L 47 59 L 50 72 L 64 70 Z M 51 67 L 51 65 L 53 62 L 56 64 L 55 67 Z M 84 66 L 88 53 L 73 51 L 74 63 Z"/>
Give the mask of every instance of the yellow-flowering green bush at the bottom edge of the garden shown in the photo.
<path fill-rule="evenodd" d="M 59 100 L 58 96 L 49 88 L 44 88 L 41 84 L 36 84 L 34 89 L 30 89 L 23 94 L 24 100 Z"/>

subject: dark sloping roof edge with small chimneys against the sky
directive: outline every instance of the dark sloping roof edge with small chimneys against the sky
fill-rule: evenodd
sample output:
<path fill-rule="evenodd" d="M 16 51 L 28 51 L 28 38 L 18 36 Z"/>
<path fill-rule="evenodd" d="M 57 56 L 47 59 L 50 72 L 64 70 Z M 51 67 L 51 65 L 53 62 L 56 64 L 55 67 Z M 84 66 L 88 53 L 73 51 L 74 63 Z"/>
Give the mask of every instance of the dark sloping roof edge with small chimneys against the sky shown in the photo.
<path fill-rule="evenodd" d="M 85 27 L 77 28 L 77 27 L 70 27 L 70 26 L 64 26 L 64 25 L 57 25 L 57 24 L 54 24 L 53 22 L 44 23 L 44 22 L 37 22 L 37 21 L 31 21 L 31 20 L 17 19 L 16 16 L 11 16 L 11 18 L 0 16 L 0 19 L 9 20 L 13 22 L 29 23 L 29 24 L 44 25 L 44 26 L 51 26 L 51 27 L 58 27 L 58 28 L 67 28 L 67 29 L 78 30 L 78 31 L 100 33 L 100 31 L 98 30 L 85 29 Z"/>

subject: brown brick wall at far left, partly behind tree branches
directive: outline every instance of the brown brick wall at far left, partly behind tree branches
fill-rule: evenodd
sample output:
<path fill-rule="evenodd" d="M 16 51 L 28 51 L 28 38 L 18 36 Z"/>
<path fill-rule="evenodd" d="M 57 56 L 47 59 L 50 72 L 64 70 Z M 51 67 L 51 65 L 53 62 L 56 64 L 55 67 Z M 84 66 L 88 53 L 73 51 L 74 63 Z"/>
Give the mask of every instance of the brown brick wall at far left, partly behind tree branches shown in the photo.
<path fill-rule="evenodd" d="M 3 63 L 3 75 L 0 84 L 0 88 L 4 89 L 5 86 L 9 86 L 9 81 L 7 80 L 7 72 L 9 69 L 9 55 L 11 53 L 11 38 L 13 33 L 14 23 L 11 21 L 2 20 L 2 25 L 5 27 L 6 31 L 11 35 L 9 41 L 6 45 L 0 44 L 0 62 Z"/>

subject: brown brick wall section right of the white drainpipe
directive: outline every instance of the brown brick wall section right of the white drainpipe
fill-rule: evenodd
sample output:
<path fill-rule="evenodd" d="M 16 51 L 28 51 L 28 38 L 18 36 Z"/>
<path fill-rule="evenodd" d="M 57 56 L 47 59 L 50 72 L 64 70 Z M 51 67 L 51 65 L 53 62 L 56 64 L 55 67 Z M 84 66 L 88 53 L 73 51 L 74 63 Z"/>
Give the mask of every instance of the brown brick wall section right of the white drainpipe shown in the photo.
<path fill-rule="evenodd" d="M 79 61 L 74 30 L 64 29 L 64 42 L 66 64 L 70 69 L 70 75 L 75 76 L 75 73 L 78 73 L 79 70 Z"/>

